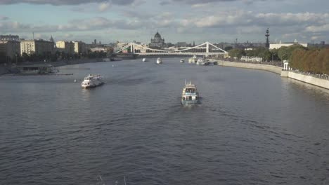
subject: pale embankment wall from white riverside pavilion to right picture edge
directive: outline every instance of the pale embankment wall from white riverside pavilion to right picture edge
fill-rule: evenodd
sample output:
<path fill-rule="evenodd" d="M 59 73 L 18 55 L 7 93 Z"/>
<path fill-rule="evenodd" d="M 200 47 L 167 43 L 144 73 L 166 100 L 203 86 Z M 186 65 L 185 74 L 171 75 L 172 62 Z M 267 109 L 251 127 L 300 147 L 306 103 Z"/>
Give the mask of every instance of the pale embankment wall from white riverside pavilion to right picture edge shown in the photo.
<path fill-rule="evenodd" d="M 302 81 L 304 83 L 309 83 L 316 85 L 321 88 L 329 89 L 329 81 L 321 78 L 316 78 L 313 76 L 308 76 L 304 74 L 295 73 L 294 71 L 282 71 L 281 77 L 288 77 L 295 79 L 297 81 Z"/>

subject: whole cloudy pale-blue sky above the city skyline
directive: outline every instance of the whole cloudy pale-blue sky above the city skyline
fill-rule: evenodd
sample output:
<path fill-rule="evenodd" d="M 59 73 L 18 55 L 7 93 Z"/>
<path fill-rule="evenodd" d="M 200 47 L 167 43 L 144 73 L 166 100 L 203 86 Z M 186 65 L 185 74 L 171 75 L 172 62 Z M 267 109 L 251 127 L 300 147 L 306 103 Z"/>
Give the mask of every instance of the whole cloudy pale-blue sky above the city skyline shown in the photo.
<path fill-rule="evenodd" d="M 92 2 L 92 3 L 91 3 Z M 328 0 L 0 0 L 0 34 L 149 43 L 329 43 Z"/>

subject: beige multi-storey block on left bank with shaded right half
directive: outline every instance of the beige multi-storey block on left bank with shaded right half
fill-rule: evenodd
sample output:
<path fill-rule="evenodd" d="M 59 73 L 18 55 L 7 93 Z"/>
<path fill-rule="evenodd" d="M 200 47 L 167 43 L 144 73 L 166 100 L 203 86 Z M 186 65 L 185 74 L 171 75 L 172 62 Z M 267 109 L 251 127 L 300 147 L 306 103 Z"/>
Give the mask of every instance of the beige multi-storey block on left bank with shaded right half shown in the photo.
<path fill-rule="evenodd" d="M 27 55 L 35 54 L 44 54 L 47 52 L 53 53 L 53 45 L 52 41 L 44 41 L 44 40 L 23 40 L 20 41 L 20 55 L 26 53 Z"/>

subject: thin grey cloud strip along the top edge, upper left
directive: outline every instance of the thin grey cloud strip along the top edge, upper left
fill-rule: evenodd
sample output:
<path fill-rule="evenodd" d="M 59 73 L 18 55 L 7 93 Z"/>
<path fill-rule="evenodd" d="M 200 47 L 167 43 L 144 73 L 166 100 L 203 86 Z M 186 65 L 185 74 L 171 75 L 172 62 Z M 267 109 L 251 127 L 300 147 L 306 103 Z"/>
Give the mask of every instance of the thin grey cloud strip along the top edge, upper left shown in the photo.
<path fill-rule="evenodd" d="M 112 4 L 116 5 L 130 5 L 134 4 L 136 0 L 112 0 Z M 89 4 L 90 0 L 1 0 L 0 4 L 51 4 L 55 6 L 60 5 L 79 5 Z M 93 0 L 92 3 L 108 3 L 108 0 Z"/>

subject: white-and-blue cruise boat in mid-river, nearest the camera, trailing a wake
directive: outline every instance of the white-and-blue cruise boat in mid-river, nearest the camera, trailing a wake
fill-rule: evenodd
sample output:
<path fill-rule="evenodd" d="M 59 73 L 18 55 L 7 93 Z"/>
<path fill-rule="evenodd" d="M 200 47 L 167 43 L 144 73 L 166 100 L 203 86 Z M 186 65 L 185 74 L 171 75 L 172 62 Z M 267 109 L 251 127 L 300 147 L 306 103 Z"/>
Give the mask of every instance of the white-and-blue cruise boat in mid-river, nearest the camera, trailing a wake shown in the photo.
<path fill-rule="evenodd" d="M 185 87 L 183 88 L 183 92 L 181 93 L 181 104 L 190 105 L 190 104 L 198 104 L 199 103 L 199 93 L 194 84 L 185 83 Z"/>

